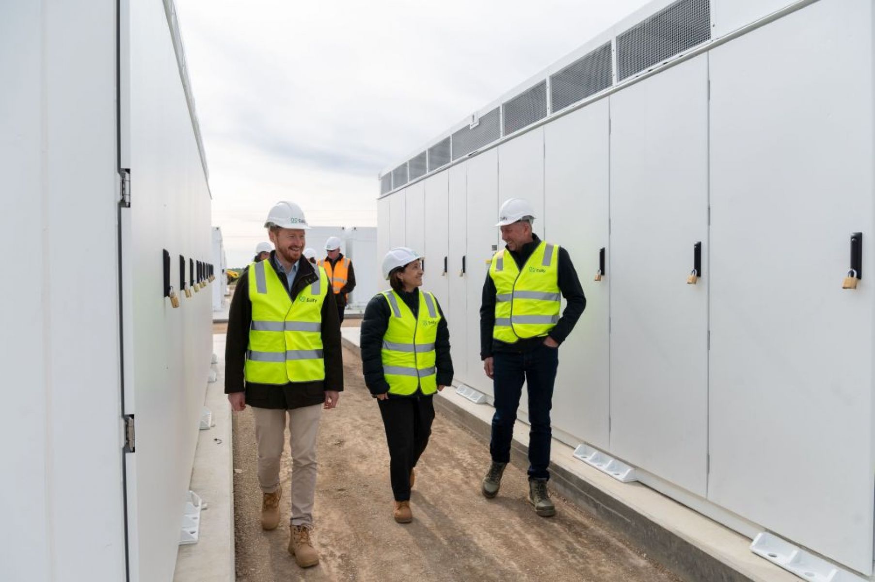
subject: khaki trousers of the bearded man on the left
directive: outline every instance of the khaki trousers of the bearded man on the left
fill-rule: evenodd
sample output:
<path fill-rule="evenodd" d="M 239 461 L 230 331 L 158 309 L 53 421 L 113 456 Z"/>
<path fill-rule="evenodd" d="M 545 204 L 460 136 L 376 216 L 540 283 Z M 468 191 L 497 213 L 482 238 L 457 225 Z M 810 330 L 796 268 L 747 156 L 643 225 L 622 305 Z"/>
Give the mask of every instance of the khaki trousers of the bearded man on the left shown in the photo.
<path fill-rule="evenodd" d="M 285 445 L 285 417 L 289 416 L 291 452 L 291 524 L 313 525 L 316 494 L 316 438 L 322 404 L 292 410 L 252 407 L 258 443 L 258 485 L 264 493 L 280 487 L 279 468 Z"/>

